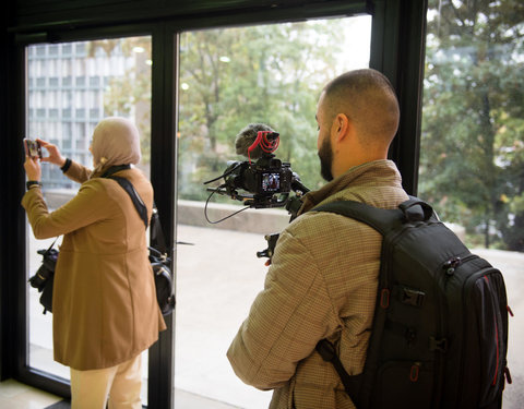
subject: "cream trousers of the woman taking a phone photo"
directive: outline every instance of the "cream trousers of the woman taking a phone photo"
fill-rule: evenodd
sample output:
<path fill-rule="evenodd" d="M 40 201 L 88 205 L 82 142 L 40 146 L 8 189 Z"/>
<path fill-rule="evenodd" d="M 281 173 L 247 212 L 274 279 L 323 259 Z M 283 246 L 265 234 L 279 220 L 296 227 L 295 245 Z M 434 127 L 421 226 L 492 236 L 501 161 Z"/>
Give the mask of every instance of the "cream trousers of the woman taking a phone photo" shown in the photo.
<path fill-rule="evenodd" d="M 142 356 L 103 370 L 71 369 L 71 409 L 142 409 Z"/>

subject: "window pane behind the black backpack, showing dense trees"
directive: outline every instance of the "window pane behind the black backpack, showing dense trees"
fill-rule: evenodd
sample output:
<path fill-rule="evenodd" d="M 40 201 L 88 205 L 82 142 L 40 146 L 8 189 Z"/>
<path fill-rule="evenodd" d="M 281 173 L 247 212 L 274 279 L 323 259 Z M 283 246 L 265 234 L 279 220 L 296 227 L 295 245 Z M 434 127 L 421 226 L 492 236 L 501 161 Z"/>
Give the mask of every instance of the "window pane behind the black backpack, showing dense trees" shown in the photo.
<path fill-rule="evenodd" d="M 523 36 L 521 3 L 429 1 L 419 195 L 502 270 L 512 328 L 524 323 L 515 311 L 524 282 Z M 523 341 L 510 330 L 513 378 L 524 375 L 511 365 Z M 504 408 L 522 407 L 517 399 L 509 385 Z"/>

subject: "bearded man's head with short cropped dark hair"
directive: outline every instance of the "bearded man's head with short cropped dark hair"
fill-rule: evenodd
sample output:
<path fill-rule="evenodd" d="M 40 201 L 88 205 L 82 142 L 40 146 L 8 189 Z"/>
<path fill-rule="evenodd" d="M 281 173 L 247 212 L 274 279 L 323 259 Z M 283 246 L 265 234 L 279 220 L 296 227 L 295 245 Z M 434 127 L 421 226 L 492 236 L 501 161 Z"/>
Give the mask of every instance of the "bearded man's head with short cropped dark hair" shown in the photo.
<path fill-rule="evenodd" d="M 371 69 L 349 71 L 323 89 L 318 108 L 322 177 L 385 159 L 398 128 L 398 101 L 390 81 Z"/>

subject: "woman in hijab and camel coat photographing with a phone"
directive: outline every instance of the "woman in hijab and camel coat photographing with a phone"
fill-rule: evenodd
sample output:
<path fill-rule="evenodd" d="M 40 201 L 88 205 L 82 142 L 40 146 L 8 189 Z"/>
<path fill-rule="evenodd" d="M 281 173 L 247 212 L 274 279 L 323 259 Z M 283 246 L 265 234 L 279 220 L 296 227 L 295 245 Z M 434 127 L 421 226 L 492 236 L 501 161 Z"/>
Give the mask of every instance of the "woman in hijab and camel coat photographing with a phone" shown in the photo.
<path fill-rule="evenodd" d="M 58 257 L 52 332 L 55 360 L 71 369 L 73 409 L 142 408 L 141 352 L 165 329 L 159 311 L 144 222 L 128 193 L 108 173 L 127 178 L 147 207 L 153 188 L 138 169 L 140 140 L 127 119 L 95 128 L 90 151 L 94 170 L 39 141 L 79 193 L 49 213 L 40 191 L 38 158 L 26 157 L 27 192 L 22 205 L 37 239 L 63 234 Z"/>

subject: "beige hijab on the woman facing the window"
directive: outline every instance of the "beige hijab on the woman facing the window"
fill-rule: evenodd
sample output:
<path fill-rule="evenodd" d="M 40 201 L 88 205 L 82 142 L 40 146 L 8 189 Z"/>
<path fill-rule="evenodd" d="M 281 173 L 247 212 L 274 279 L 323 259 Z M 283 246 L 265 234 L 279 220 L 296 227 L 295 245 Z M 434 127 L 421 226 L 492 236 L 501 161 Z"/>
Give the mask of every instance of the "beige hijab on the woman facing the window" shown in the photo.
<path fill-rule="evenodd" d="M 115 165 L 136 165 L 141 159 L 139 130 L 129 119 L 106 118 L 93 132 L 91 151 L 95 165 L 92 178 Z"/>

